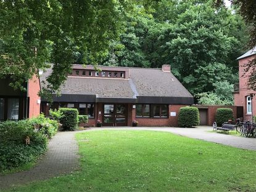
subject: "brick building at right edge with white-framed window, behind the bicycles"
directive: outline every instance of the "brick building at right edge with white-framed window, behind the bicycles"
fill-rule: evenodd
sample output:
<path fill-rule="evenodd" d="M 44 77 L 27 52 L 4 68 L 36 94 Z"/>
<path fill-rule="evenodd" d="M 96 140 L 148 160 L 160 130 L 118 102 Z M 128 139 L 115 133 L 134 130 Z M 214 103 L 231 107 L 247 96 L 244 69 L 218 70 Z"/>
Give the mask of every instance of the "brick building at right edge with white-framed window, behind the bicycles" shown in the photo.
<path fill-rule="evenodd" d="M 242 106 L 244 110 L 244 119 L 251 120 L 252 115 L 256 115 L 256 92 L 247 89 L 247 76 L 243 76 L 245 65 L 256 57 L 256 47 L 249 50 L 246 54 L 238 57 L 239 63 L 239 84 L 234 86 L 234 105 Z M 250 95 L 254 96 L 253 98 Z"/>

